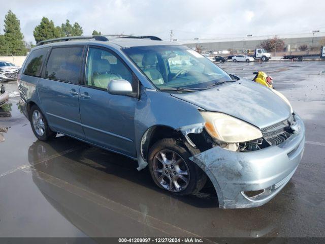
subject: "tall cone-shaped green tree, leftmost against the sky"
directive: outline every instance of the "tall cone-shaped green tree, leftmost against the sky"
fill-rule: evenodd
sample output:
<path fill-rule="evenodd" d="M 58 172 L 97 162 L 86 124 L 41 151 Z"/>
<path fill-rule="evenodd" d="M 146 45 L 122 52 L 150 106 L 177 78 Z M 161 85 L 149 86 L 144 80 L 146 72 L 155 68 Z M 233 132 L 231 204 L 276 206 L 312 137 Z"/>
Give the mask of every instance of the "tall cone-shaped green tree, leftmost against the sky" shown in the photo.
<path fill-rule="evenodd" d="M 20 31 L 20 21 L 11 10 L 5 16 L 4 26 L 4 39 L 8 45 L 9 53 L 13 55 L 25 55 L 26 47 L 23 42 L 24 36 Z"/>

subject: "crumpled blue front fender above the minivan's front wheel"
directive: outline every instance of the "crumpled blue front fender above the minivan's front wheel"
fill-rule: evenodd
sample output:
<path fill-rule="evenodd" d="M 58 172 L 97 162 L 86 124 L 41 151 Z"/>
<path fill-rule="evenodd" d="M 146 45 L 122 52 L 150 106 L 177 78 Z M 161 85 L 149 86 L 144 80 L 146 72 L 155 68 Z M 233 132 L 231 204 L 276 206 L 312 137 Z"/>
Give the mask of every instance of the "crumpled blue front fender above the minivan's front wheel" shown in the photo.
<path fill-rule="evenodd" d="M 153 126 L 167 126 L 178 130 L 190 125 L 205 123 L 199 107 L 169 93 L 144 89 L 135 111 L 135 139 L 138 155 L 138 170 L 147 166 L 141 154 L 141 140 L 145 132 Z"/>

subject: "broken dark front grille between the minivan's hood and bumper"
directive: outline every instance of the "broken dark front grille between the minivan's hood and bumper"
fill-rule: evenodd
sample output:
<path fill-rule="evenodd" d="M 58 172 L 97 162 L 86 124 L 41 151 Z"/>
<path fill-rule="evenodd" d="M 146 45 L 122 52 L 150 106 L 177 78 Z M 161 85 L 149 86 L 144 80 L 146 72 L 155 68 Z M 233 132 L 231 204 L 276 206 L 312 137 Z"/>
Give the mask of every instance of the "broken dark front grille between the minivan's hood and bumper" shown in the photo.
<path fill-rule="evenodd" d="M 276 123 L 272 126 L 268 126 L 262 128 L 263 138 L 270 144 L 270 145 L 279 145 L 288 139 L 293 131 L 290 129 L 291 123 L 293 122 L 294 118 L 291 115 L 288 119 L 285 119 L 279 123 Z"/>

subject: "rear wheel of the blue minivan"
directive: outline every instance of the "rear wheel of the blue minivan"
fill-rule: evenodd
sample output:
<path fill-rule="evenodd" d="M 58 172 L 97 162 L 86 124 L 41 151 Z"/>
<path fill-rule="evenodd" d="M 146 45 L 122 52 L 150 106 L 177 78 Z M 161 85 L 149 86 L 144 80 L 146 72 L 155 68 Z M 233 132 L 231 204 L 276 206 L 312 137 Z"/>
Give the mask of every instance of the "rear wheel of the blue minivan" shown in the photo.
<path fill-rule="evenodd" d="M 32 132 L 37 139 L 47 141 L 55 138 L 56 132 L 51 131 L 44 114 L 37 105 L 30 108 L 28 115 Z"/>

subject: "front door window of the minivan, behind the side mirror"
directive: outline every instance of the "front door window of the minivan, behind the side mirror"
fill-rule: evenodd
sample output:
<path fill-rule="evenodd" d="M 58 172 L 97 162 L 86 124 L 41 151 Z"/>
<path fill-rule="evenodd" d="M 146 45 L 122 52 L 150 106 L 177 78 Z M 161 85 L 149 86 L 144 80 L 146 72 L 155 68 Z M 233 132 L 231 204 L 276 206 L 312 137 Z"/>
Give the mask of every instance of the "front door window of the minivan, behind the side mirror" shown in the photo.
<path fill-rule="evenodd" d="M 106 89 L 112 80 L 124 79 L 133 87 L 132 73 L 113 53 L 89 48 L 86 65 L 86 85 Z"/>

